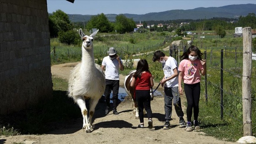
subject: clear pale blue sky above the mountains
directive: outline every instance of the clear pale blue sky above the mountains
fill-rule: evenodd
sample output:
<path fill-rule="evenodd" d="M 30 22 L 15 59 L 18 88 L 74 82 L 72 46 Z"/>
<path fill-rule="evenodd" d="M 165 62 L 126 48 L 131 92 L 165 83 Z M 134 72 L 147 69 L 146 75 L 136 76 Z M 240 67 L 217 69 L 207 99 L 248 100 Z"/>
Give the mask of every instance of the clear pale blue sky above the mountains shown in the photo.
<path fill-rule="evenodd" d="M 256 0 L 47 0 L 48 13 L 62 10 L 66 14 L 146 14 L 169 10 L 189 10 L 198 7 L 219 7 L 256 4 Z"/>

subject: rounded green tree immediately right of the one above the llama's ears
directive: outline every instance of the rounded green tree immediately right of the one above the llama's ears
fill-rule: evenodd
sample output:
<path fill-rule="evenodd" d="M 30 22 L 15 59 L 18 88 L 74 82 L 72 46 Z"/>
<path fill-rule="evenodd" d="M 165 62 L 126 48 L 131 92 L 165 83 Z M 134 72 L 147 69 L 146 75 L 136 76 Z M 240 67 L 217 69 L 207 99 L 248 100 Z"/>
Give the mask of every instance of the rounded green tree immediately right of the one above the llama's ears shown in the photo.
<path fill-rule="evenodd" d="M 132 32 L 136 28 L 135 21 L 133 18 L 127 18 L 123 14 L 116 16 L 115 30 L 118 33 Z"/>

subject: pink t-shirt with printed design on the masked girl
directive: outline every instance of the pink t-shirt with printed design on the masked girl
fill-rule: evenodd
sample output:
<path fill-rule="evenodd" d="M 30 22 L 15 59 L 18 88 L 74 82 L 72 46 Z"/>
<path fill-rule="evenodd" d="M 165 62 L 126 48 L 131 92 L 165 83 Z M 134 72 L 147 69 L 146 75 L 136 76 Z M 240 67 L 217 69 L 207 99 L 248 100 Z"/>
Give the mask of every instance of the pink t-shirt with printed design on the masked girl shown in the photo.
<path fill-rule="evenodd" d="M 183 72 L 182 79 L 185 84 L 196 84 L 200 82 L 201 75 L 199 69 L 203 69 L 200 59 L 190 61 L 188 59 L 181 60 L 179 64 L 179 71 Z"/>

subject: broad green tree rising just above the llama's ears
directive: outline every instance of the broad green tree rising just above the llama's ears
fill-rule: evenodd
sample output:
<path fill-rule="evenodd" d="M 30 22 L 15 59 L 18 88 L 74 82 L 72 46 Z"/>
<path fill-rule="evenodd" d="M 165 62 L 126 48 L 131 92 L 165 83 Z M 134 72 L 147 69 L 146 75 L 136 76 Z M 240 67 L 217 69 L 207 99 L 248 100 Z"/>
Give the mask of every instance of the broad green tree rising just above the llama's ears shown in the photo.
<path fill-rule="evenodd" d="M 113 27 L 107 17 L 101 13 L 97 16 L 91 16 L 91 19 L 86 24 L 86 29 L 90 31 L 92 28 L 99 29 L 100 32 L 112 32 Z"/>

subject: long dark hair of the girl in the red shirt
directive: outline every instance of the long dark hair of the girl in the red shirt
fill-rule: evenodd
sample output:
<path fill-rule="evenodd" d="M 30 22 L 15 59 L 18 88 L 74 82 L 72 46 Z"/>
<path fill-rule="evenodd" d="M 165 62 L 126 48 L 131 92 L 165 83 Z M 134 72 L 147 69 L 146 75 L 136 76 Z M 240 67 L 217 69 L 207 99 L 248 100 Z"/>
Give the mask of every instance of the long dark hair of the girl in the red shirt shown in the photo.
<path fill-rule="evenodd" d="M 149 64 L 146 59 L 140 59 L 136 68 L 136 72 L 133 74 L 134 78 L 137 80 L 137 78 L 140 78 L 142 75 L 142 72 L 149 71 Z M 151 74 L 151 73 L 150 73 Z"/>

